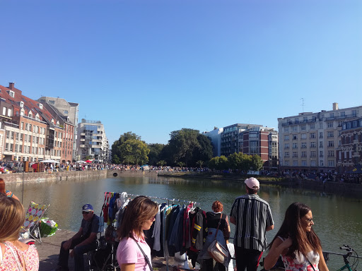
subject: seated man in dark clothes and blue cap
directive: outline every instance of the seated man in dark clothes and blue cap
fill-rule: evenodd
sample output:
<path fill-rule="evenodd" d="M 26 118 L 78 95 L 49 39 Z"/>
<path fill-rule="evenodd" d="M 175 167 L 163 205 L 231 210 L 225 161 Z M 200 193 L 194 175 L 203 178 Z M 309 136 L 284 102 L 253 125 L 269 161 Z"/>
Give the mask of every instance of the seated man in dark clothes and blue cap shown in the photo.
<path fill-rule="evenodd" d="M 96 239 L 99 217 L 94 214 L 93 206 L 90 204 L 83 205 L 82 215 L 83 219 L 79 231 L 71 239 L 63 241 L 62 246 L 60 246 L 57 271 L 69 270 L 68 258 L 70 249 L 73 249 L 70 255 L 74 257 L 74 270 L 83 271 L 83 254 L 88 251 L 94 251 L 97 248 Z"/>

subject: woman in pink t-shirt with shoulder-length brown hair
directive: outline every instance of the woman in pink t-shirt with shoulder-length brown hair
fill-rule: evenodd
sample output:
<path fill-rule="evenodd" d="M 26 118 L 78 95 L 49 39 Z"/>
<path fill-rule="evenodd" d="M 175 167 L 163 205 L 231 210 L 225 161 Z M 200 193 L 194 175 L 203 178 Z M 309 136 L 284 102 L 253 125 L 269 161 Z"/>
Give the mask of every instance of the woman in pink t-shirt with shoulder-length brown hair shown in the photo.
<path fill-rule="evenodd" d="M 144 230 L 151 228 L 157 212 L 157 203 L 144 195 L 131 200 L 124 210 L 117 230 L 117 261 L 122 271 L 152 270 L 151 248 L 145 241 Z"/>

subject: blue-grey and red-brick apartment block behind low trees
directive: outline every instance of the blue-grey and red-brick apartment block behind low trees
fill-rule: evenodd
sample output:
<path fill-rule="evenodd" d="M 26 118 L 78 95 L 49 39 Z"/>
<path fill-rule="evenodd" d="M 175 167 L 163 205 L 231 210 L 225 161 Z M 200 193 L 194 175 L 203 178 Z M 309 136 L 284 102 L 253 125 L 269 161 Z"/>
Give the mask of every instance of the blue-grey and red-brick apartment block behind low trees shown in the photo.
<path fill-rule="evenodd" d="M 274 128 L 257 124 L 233 124 L 223 128 L 221 133 L 221 155 L 234 152 L 259 155 L 264 169 L 278 168 L 278 132 Z"/>

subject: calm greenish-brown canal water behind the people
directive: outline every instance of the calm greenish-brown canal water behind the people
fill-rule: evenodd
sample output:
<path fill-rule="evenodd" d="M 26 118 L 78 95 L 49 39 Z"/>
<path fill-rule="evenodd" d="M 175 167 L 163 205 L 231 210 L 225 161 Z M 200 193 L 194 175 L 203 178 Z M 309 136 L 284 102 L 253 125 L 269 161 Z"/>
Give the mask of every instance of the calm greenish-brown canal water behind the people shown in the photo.
<path fill-rule="evenodd" d="M 8 184 L 6 188 L 21 199 L 21 183 Z M 100 214 L 105 192 L 192 200 L 199 203 L 205 211 L 211 210 L 214 200 L 220 200 L 227 215 L 230 214 L 234 199 L 245 194 L 244 185 L 240 183 L 158 176 L 25 183 L 24 191 L 23 205 L 28 205 L 31 200 L 36 203 L 49 203 L 46 217 L 57 222 L 60 229 L 73 231 L 79 229 L 82 205 L 91 203 L 96 214 Z M 267 232 L 268 241 L 271 241 L 279 229 L 288 205 L 299 201 L 312 208 L 314 229 L 322 241 L 324 251 L 342 253 L 339 246 L 346 244 L 362 255 L 361 199 L 263 184 L 259 195 L 269 203 L 274 218 L 274 230 Z M 231 225 L 232 236 L 234 230 Z M 341 256 L 330 256 L 329 270 L 337 270 L 342 265 L 344 263 Z"/>

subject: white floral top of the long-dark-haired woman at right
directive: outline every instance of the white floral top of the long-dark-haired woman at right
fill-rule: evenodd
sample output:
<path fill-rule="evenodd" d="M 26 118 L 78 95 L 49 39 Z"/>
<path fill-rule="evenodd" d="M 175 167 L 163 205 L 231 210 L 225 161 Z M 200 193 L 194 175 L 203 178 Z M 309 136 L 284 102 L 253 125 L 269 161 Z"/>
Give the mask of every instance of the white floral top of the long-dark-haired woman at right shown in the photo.
<path fill-rule="evenodd" d="M 279 239 L 284 241 L 283 238 L 279 236 Z M 315 271 L 319 271 L 318 263 L 320 262 L 320 255 L 317 252 L 310 251 L 307 254 L 309 262 L 313 265 Z M 296 253 L 296 258 L 293 259 L 290 256 L 281 255 L 281 260 L 283 260 L 284 267 L 286 271 L 314 271 L 312 265 L 305 259 L 304 255 L 301 253 Z"/>

